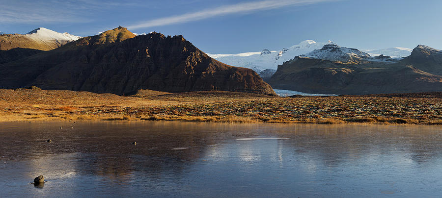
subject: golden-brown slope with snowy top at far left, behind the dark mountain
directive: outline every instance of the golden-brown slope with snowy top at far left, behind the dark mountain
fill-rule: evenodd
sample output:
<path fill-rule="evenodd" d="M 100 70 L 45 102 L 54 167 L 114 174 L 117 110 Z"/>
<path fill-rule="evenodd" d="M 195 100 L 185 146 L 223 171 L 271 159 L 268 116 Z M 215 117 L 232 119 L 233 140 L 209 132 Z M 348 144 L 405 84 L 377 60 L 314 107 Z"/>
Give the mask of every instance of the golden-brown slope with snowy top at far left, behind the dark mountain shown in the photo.
<path fill-rule="evenodd" d="M 0 64 L 25 58 L 76 41 L 80 36 L 39 27 L 27 34 L 0 33 Z"/>

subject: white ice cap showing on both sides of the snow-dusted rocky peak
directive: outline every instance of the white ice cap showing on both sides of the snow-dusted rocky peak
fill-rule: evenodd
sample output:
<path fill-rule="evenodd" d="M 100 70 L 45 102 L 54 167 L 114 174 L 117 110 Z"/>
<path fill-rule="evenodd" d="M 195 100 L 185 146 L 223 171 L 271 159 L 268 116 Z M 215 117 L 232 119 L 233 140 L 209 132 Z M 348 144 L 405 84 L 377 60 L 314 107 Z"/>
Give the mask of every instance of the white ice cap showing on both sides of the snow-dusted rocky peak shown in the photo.
<path fill-rule="evenodd" d="M 277 70 L 278 65 L 300 56 L 302 54 L 309 53 L 315 49 L 322 49 L 325 45 L 335 44 L 331 41 L 316 43 L 313 40 L 305 40 L 298 45 L 291 46 L 289 48 L 283 48 L 278 51 L 270 51 L 271 53 L 263 53 L 267 49 L 258 52 L 244 52 L 237 54 L 212 54 L 208 53 L 212 58 L 215 58 L 225 64 L 245 67 L 256 71 L 257 73 L 265 69 Z M 387 48 L 387 49 L 374 49 L 374 50 L 360 50 L 360 52 L 355 52 L 362 54 L 366 52 L 369 56 L 379 56 L 381 54 L 385 56 L 390 56 L 391 58 L 400 58 L 404 56 L 409 56 L 412 49 L 408 48 Z M 262 54 L 261 54 L 262 53 Z M 382 61 L 379 59 L 379 61 Z"/>

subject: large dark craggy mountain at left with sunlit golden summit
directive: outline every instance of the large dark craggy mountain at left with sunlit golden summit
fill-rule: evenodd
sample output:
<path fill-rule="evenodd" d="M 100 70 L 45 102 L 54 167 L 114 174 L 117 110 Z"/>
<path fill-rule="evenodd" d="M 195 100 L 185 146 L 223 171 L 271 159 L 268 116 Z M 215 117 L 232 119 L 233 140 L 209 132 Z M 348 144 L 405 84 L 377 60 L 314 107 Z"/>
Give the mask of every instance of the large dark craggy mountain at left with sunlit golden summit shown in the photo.
<path fill-rule="evenodd" d="M 274 94 L 258 74 L 225 65 L 182 36 L 135 36 L 124 27 L 0 65 L 0 86 L 125 94 L 237 91 Z"/>

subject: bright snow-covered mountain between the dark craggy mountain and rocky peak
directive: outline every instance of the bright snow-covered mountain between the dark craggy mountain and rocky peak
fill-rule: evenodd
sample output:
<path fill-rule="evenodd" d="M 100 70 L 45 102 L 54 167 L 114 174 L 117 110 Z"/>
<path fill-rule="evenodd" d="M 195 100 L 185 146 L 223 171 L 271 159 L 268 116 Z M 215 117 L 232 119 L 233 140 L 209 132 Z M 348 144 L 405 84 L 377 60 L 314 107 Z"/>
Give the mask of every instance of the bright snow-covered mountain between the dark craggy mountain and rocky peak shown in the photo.
<path fill-rule="evenodd" d="M 208 55 L 225 64 L 249 68 L 259 73 L 266 69 L 272 69 L 276 71 L 278 65 L 281 65 L 282 63 L 293 59 L 295 56 L 310 52 L 314 49 L 321 49 L 324 45 L 331 43 L 331 41 L 326 43 L 316 43 L 312 40 L 306 40 L 298 45 L 294 45 L 289 48 L 283 48 L 279 51 L 264 49 L 259 52 L 246 52 L 237 54 L 208 53 Z"/>

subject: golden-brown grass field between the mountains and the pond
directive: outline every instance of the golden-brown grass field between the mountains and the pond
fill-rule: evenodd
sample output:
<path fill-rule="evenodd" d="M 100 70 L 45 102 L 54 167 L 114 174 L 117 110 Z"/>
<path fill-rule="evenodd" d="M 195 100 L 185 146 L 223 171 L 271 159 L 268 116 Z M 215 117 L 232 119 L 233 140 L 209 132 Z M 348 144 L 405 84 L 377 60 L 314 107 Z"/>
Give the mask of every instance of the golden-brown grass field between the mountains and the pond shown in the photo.
<path fill-rule="evenodd" d="M 0 89 L 0 122 L 164 120 L 226 123 L 442 124 L 436 94 L 283 98 L 222 91 L 124 97 L 76 91 Z"/>

